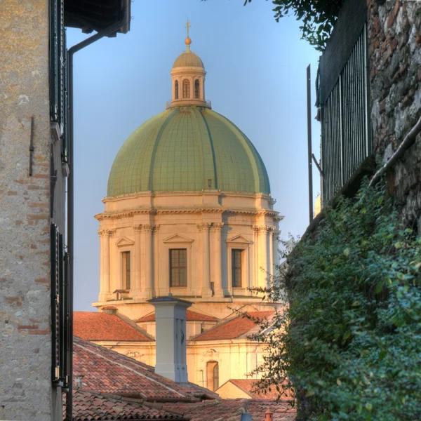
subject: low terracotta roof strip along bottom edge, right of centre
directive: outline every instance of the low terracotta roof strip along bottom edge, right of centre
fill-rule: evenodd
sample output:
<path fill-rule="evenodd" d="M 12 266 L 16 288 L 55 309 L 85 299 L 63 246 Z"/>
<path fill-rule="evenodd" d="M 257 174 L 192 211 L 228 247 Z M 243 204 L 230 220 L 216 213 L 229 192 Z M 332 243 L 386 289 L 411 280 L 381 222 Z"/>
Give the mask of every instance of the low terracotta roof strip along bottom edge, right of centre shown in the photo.
<path fill-rule="evenodd" d="M 241 413 L 250 413 L 253 421 L 265 421 L 265 412 L 273 413 L 273 421 L 293 421 L 296 410 L 288 401 L 258 399 L 224 399 L 202 403 L 163 403 L 156 408 L 171 410 L 190 421 L 240 421 Z"/>

